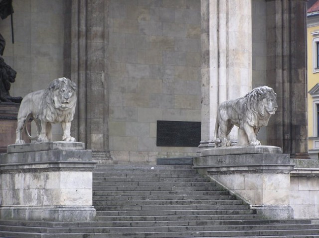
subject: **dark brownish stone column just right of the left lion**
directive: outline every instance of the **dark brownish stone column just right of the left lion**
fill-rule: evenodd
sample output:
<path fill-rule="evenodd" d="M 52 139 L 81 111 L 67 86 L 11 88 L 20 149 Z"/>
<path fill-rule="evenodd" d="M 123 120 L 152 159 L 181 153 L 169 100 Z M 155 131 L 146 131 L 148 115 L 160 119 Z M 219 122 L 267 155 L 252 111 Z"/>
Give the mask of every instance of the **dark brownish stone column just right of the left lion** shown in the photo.
<path fill-rule="evenodd" d="M 65 3 L 66 72 L 78 85 L 78 105 L 72 133 L 92 150 L 95 161 L 109 156 L 107 85 L 108 0 Z M 70 34 L 68 33 L 70 32 Z"/>

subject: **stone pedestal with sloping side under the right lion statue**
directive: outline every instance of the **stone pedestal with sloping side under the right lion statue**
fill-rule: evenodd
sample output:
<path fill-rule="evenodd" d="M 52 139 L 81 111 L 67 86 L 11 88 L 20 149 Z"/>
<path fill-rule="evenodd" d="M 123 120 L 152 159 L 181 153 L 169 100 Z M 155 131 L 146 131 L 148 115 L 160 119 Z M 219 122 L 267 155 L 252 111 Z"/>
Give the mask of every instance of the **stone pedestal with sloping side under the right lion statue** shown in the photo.
<path fill-rule="evenodd" d="M 249 146 L 207 149 L 194 168 L 229 189 L 269 219 L 291 219 L 290 171 L 281 148 Z"/>

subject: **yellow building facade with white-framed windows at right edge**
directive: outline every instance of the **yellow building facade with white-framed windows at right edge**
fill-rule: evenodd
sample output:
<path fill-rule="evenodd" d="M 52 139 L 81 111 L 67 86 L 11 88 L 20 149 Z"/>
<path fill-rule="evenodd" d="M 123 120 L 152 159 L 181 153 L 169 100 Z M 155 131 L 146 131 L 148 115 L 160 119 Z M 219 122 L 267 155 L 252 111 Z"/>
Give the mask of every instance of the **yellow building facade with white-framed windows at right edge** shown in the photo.
<path fill-rule="evenodd" d="M 319 158 L 319 11 L 313 7 L 307 17 L 308 51 L 308 136 L 309 154 Z"/>

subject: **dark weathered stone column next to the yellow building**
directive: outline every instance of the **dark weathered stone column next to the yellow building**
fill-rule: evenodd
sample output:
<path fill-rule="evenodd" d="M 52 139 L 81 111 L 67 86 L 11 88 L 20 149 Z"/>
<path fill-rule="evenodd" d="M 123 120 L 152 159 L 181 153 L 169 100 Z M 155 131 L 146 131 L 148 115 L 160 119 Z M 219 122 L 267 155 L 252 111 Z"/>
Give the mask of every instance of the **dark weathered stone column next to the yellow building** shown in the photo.
<path fill-rule="evenodd" d="M 278 110 L 268 124 L 268 144 L 291 158 L 308 159 L 306 0 L 267 0 L 267 84 Z"/>

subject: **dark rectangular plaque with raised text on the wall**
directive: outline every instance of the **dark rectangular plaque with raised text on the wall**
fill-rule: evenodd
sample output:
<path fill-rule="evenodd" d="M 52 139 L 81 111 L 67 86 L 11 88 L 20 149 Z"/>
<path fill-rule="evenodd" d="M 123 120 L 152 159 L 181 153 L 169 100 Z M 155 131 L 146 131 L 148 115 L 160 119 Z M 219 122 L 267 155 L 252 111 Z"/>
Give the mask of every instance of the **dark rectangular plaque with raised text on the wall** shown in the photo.
<path fill-rule="evenodd" d="M 201 139 L 201 123 L 158 121 L 157 146 L 197 147 Z"/>

